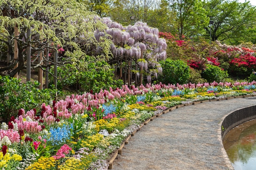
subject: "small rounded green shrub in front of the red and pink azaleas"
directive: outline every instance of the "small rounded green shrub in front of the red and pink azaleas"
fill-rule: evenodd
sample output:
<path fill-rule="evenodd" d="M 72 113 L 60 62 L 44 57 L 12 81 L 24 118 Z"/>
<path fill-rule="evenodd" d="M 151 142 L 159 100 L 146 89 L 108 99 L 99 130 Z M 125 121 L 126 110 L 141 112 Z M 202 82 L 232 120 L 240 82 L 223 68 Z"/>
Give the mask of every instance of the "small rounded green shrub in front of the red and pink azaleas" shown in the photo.
<path fill-rule="evenodd" d="M 216 65 L 208 64 L 206 69 L 201 74 L 202 78 L 206 79 L 209 83 L 216 81 L 225 81 L 225 79 L 229 76 L 227 71 L 221 70 Z"/>

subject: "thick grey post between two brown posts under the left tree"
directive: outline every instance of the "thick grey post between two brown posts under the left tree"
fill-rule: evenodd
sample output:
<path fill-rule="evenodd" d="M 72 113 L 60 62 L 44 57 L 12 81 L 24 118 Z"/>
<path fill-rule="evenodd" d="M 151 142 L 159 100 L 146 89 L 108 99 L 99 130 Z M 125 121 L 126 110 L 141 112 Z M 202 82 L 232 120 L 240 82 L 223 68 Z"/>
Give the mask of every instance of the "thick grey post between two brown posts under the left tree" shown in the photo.
<path fill-rule="evenodd" d="M 27 81 L 31 81 L 31 28 L 27 28 Z"/>

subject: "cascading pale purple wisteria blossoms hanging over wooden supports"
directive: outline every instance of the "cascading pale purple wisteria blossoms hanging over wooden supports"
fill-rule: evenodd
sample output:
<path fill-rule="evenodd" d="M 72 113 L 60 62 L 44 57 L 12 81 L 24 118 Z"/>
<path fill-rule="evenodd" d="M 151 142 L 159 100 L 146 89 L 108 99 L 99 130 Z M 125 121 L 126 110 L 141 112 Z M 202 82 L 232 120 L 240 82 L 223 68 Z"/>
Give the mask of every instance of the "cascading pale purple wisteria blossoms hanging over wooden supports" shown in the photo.
<path fill-rule="evenodd" d="M 165 39 L 159 38 L 157 28 L 152 28 L 140 21 L 126 27 L 113 22 L 110 18 L 101 18 L 101 21 L 108 26 L 106 33 L 110 35 L 109 38 L 113 42 L 111 52 L 115 59 L 119 60 L 119 63 L 127 62 L 127 60 L 135 61 L 133 63 L 138 64 L 139 69 L 142 67 L 143 72 L 147 74 L 148 83 L 151 82 L 149 77 L 157 77 L 157 74 L 162 73 L 158 62 L 166 59 L 167 44 Z M 95 35 L 97 39 L 101 35 L 106 36 L 103 33 L 95 33 Z M 143 61 L 136 62 L 140 59 Z M 132 68 L 135 69 L 134 65 Z M 135 72 L 137 73 L 139 70 L 135 70 Z"/>

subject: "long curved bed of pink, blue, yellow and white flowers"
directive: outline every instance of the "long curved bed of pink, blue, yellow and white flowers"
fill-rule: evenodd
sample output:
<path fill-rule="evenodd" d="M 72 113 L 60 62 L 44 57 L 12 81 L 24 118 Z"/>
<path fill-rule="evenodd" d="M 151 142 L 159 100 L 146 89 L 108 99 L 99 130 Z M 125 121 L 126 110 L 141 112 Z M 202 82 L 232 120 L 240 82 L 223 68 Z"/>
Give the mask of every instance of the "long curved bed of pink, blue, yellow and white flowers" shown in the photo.
<path fill-rule="evenodd" d="M 141 125 L 193 102 L 255 94 L 256 82 L 141 85 L 67 96 L 2 123 L 0 168 L 108 169 L 112 153 Z"/>

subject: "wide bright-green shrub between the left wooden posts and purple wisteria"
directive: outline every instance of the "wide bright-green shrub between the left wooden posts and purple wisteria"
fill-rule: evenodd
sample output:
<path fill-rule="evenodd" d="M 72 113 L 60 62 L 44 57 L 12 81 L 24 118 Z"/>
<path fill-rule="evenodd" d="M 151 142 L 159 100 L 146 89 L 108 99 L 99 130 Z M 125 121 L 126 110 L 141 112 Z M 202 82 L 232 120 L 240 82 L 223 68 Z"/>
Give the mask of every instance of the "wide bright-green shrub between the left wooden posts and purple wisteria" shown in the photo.
<path fill-rule="evenodd" d="M 114 70 L 101 69 L 102 65 L 108 65 L 106 62 L 96 61 L 87 65 L 87 71 L 79 71 L 69 64 L 65 68 L 58 68 L 57 88 L 71 88 L 79 92 L 99 92 L 101 89 L 116 88 L 123 85 L 122 80 L 116 80 Z M 52 72 L 53 70 L 51 70 Z M 53 84 L 53 77 L 50 78 L 50 84 Z"/>

